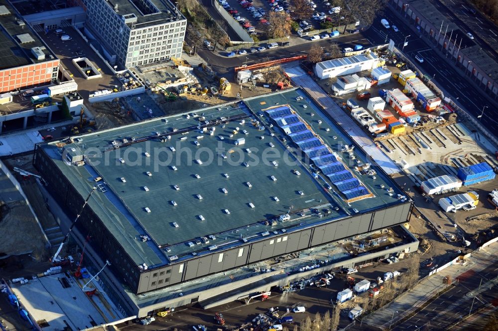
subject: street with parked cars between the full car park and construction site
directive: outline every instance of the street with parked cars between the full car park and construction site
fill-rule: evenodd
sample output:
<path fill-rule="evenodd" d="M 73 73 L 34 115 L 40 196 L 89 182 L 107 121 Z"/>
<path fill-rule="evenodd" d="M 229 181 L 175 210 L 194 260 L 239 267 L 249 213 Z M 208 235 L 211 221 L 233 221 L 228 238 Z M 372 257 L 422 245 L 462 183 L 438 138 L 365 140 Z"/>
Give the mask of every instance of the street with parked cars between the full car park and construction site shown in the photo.
<path fill-rule="evenodd" d="M 295 38 L 295 37 L 291 37 Z M 337 38 L 320 39 L 314 42 L 308 40 L 300 40 L 298 45 L 289 47 L 277 47 L 271 50 L 265 50 L 257 53 L 249 53 L 247 55 L 236 56 L 233 58 L 227 58 L 226 56 L 220 56 L 218 53 L 214 53 L 206 48 L 197 49 L 197 53 L 207 61 L 211 67 L 220 74 L 226 74 L 228 72 L 233 72 L 235 67 L 243 66 L 244 64 L 250 65 L 266 60 L 275 60 L 278 58 L 299 56 L 308 53 L 311 45 L 320 45 L 326 51 L 333 43 L 337 43 L 339 47 L 346 48 L 352 47 L 354 45 L 364 45 L 372 46 L 371 42 L 363 36 L 361 33 L 343 35 Z M 224 54 L 224 53 L 222 53 Z"/>

